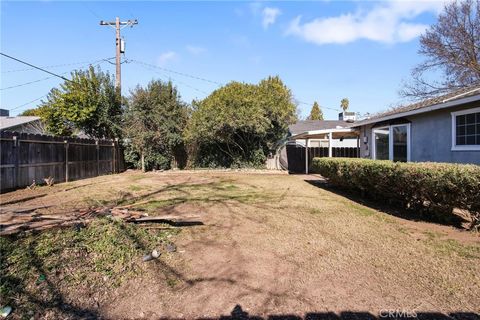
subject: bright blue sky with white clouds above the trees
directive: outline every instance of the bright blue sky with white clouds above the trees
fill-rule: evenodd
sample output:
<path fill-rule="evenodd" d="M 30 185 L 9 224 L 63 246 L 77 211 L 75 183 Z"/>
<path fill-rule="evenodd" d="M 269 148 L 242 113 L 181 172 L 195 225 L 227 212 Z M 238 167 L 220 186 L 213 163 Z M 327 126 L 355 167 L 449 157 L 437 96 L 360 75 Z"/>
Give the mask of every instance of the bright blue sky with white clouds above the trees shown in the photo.
<path fill-rule="evenodd" d="M 183 99 L 201 99 L 217 83 L 256 83 L 279 75 L 302 116 L 314 100 L 335 119 L 350 109 L 376 112 L 401 102 L 402 80 L 423 57 L 418 36 L 436 21 L 436 1 L 319 2 L 1 2 L 1 52 L 65 73 L 115 56 L 115 35 L 100 20 L 136 18 L 125 28 L 122 92 L 171 79 Z M 1 58 L 0 106 L 35 107 L 61 80 Z M 76 63 L 76 64 L 74 64 Z M 98 62 L 97 62 L 98 63 Z M 58 66 L 62 65 L 62 66 Z M 103 70 L 114 66 L 102 61 Z M 167 71 L 168 70 L 168 71 Z M 24 86 L 10 88 L 27 82 Z M 327 109 L 328 108 L 328 109 Z M 331 108 L 331 109 L 330 109 Z"/>

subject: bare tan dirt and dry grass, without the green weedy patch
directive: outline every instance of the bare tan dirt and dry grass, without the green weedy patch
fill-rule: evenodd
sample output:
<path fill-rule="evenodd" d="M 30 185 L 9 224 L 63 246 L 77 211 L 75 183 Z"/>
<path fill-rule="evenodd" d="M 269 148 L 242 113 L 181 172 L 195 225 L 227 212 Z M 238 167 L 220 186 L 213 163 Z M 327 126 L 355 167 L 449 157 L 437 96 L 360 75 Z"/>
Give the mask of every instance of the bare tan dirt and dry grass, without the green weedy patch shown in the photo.
<path fill-rule="evenodd" d="M 118 287 L 62 289 L 104 318 L 480 312 L 478 235 L 392 217 L 302 176 L 128 172 L 60 187 L 9 206 L 61 212 L 123 201 L 152 215 L 194 211 L 204 223 L 171 235 L 175 252 L 139 264 Z M 130 195 L 119 200 L 120 192 Z"/>

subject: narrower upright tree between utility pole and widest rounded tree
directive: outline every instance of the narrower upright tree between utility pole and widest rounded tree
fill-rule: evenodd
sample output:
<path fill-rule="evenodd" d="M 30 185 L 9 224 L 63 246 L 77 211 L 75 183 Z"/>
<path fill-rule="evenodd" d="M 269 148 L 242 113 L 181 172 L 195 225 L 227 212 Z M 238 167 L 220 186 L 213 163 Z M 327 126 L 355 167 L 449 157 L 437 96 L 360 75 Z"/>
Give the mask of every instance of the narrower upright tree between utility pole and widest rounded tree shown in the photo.
<path fill-rule="evenodd" d="M 143 171 L 184 166 L 183 131 L 188 108 L 171 82 L 137 86 L 125 112 L 126 159 Z"/>

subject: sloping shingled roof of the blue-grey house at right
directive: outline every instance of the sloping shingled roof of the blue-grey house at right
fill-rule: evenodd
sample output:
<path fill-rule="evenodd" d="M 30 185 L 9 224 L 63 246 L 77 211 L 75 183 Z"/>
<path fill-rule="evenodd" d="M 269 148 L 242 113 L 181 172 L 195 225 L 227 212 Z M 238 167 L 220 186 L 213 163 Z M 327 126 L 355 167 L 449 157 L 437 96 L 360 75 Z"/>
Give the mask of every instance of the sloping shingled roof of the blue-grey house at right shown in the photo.
<path fill-rule="evenodd" d="M 409 116 L 418 113 L 453 107 L 462 103 L 480 100 L 480 84 L 465 87 L 434 98 L 378 113 L 368 119 L 355 122 L 352 127 Z"/>

